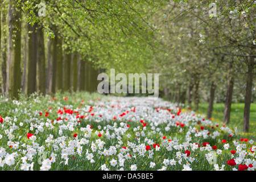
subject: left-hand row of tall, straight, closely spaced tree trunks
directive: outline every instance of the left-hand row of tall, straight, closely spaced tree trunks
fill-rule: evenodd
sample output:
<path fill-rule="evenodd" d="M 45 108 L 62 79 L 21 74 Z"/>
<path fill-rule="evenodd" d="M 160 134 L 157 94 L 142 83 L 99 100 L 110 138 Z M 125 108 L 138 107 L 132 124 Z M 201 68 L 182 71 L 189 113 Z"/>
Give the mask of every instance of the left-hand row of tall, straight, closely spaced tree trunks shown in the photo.
<path fill-rule="evenodd" d="M 37 13 L 39 2 L 1 0 L 0 4 L 3 95 L 18 98 L 20 91 L 29 95 L 52 94 L 57 90 L 97 90 L 99 69 L 89 61 L 89 55 L 72 48 L 72 44 L 67 46 L 67 38 L 53 23 L 51 34 L 46 37 Z M 32 18 L 28 17 L 31 14 Z"/>

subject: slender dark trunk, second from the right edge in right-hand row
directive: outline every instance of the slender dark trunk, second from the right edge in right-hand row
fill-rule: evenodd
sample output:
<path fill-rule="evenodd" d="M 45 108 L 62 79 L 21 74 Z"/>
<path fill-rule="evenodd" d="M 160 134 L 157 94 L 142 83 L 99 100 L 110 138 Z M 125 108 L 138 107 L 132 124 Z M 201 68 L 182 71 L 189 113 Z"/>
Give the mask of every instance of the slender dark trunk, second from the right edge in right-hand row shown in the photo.
<path fill-rule="evenodd" d="M 233 76 L 230 76 L 227 81 L 226 101 L 225 101 L 224 118 L 223 118 L 223 123 L 226 123 L 226 124 L 229 123 L 229 119 L 230 119 L 233 87 L 234 87 L 234 78 Z"/>

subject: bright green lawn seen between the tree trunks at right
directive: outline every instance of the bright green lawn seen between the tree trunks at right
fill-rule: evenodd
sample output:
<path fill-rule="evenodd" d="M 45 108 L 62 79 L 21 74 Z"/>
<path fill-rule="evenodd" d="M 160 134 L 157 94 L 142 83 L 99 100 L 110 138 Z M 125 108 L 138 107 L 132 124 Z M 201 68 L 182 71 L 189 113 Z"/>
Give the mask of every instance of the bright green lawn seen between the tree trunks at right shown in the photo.
<path fill-rule="evenodd" d="M 245 104 L 232 104 L 229 127 L 237 127 L 238 130 L 243 131 L 243 107 Z M 198 113 L 207 115 L 208 103 L 200 103 Z M 193 110 L 193 107 L 192 107 Z M 218 103 L 213 105 L 212 118 L 213 121 L 222 123 L 224 115 L 224 104 Z M 256 104 L 251 103 L 250 107 L 250 122 L 249 133 L 256 134 Z"/>

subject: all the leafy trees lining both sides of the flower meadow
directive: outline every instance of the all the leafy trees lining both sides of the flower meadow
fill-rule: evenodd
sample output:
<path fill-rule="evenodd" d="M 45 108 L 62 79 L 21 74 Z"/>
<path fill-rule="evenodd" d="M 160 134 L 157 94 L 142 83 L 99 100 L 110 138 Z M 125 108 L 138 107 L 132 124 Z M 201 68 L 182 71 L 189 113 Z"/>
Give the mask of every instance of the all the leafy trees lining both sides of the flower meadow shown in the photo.
<path fill-rule="evenodd" d="M 254 1 L 0 1 L 7 97 L 17 98 L 19 89 L 93 91 L 100 68 L 160 73 L 160 89 L 172 102 L 193 102 L 197 110 L 207 100 L 208 118 L 214 101 L 225 102 L 224 123 L 234 95 L 241 97 L 249 131 Z"/>

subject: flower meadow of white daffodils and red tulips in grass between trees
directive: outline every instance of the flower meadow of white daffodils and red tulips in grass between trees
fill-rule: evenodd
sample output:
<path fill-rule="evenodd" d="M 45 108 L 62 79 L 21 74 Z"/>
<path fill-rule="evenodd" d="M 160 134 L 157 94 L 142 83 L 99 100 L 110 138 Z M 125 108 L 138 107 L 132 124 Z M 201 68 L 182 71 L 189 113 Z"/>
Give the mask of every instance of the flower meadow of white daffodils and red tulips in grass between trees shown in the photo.
<path fill-rule="evenodd" d="M 253 134 L 160 98 L 32 94 L 2 97 L 0 107 L 0 170 L 254 171 L 256 165 Z"/>

